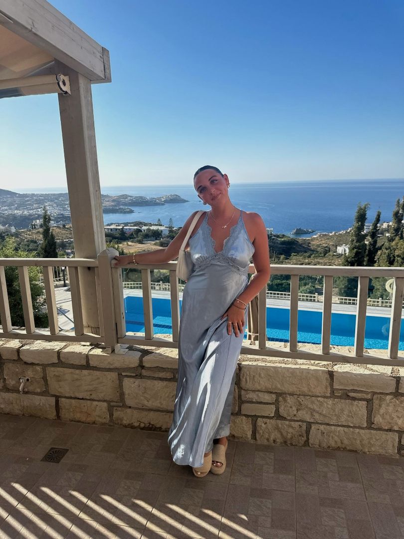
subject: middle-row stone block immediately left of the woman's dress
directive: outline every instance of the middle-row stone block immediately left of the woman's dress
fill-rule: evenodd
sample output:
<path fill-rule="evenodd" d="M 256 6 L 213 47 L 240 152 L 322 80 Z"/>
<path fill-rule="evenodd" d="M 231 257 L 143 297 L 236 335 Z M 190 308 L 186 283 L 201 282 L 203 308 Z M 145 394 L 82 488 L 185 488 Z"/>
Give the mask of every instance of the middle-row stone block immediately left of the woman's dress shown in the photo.
<path fill-rule="evenodd" d="M 174 408 L 176 394 L 175 382 L 145 380 L 143 378 L 124 378 L 123 393 L 128 406 L 169 410 Z"/>

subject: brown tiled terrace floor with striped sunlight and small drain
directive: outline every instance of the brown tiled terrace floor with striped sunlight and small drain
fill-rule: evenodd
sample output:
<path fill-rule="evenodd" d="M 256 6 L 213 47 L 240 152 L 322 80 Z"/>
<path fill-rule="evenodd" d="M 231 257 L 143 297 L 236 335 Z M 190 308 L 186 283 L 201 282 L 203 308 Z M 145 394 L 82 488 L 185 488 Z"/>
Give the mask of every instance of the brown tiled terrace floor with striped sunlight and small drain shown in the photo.
<path fill-rule="evenodd" d="M 0 414 L 0 538 L 404 537 L 404 459 L 242 442 L 227 458 L 197 479 L 166 434 Z"/>

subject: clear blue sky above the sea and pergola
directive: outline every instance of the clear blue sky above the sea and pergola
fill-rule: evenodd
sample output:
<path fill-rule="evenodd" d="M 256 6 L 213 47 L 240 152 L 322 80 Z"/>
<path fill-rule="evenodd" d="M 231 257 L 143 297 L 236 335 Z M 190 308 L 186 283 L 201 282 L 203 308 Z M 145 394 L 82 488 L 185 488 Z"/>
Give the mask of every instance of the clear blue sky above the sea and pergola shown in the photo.
<path fill-rule="evenodd" d="M 110 50 L 101 185 L 404 177 L 402 0 L 52 3 Z M 0 114 L 0 186 L 66 185 L 57 96 Z"/>

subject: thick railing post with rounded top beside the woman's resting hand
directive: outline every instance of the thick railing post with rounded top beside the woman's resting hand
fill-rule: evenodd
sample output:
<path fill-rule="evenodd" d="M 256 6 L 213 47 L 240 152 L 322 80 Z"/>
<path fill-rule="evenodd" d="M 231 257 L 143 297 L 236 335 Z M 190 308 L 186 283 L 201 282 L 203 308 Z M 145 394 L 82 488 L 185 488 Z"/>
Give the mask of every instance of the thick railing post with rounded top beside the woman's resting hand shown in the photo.
<path fill-rule="evenodd" d="M 103 342 L 106 348 L 113 350 L 118 343 L 115 317 L 115 303 L 112 279 L 112 259 L 119 254 L 113 248 L 105 249 L 97 256 L 99 277 L 100 277 L 100 297 L 102 311 L 102 321 L 104 326 Z M 102 337 L 100 337 L 102 341 Z"/>

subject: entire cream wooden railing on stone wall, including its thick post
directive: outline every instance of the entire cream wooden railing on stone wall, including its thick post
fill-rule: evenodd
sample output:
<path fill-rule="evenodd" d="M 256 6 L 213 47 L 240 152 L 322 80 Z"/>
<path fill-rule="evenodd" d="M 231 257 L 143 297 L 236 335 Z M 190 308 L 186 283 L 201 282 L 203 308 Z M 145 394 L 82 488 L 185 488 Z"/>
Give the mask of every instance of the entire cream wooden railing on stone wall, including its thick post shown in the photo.
<path fill-rule="evenodd" d="M 176 276 L 176 262 L 168 264 L 138 265 L 141 271 L 141 286 L 143 296 L 144 314 L 144 336 L 127 333 L 122 269 L 114 267 L 114 255 L 117 252 L 107 249 L 100 253 L 97 259 L 0 259 L 0 338 L 20 338 L 20 339 L 42 339 L 54 341 L 81 341 L 81 342 L 101 342 L 107 348 L 113 349 L 116 344 L 137 344 L 152 345 L 155 347 L 177 347 L 179 334 L 179 291 L 182 288 L 178 284 Z M 11 325 L 10 307 L 8 293 L 5 284 L 5 266 L 17 266 L 19 283 L 22 293 L 22 304 L 24 312 L 25 327 L 16 328 Z M 46 296 L 47 313 L 49 327 L 38 329 L 34 326 L 33 309 L 31 301 L 28 268 L 39 266 L 43 271 L 44 289 Z M 74 317 L 74 333 L 63 331 L 58 326 L 58 313 L 55 301 L 55 291 L 53 284 L 52 268 L 56 266 L 66 266 L 71 287 L 72 310 Z M 128 265 L 127 267 L 130 267 Z M 80 273 L 83 268 L 95 269 L 96 302 L 100 320 L 100 335 L 89 333 L 85 329 L 83 322 L 83 310 L 81 303 L 81 280 Z M 169 271 L 170 282 L 168 285 L 171 298 L 171 319 L 172 338 L 162 339 L 154 336 L 153 313 L 151 293 L 160 283 L 151 283 L 151 269 L 166 269 Z M 250 266 L 250 273 L 254 273 L 254 267 Z M 266 323 L 266 299 L 267 293 L 264 289 L 258 296 L 258 345 L 244 346 L 242 353 L 281 358 L 299 358 L 305 360 L 320 360 L 349 363 L 374 363 L 404 366 L 403 355 L 399 358 L 400 325 L 402 316 L 402 303 L 404 294 L 404 268 L 365 268 L 365 267 L 334 267 L 334 266 L 272 266 L 272 274 L 290 275 L 290 330 L 288 348 L 276 348 L 267 346 L 267 323 Z M 297 320 L 298 301 L 301 299 L 298 293 L 299 275 L 323 275 L 324 287 L 322 295 L 322 338 L 320 350 L 316 353 L 304 351 L 298 348 L 297 341 Z M 332 309 L 332 287 L 333 277 L 358 277 L 358 298 L 356 309 L 356 330 L 354 337 L 353 355 L 339 354 L 330 351 L 331 337 L 331 309 Z M 364 351 L 365 324 L 368 281 L 374 277 L 385 277 L 394 279 L 393 297 L 390 311 L 390 328 L 388 349 L 386 354 L 380 355 L 366 354 Z M 133 285 L 138 286 L 137 283 Z M 164 288 L 164 286 L 163 286 Z M 161 288 L 158 288 L 161 289 Z M 300 296 L 307 296 L 306 294 Z M 307 301 L 307 299 L 303 299 Z M 378 300 L 375 300 L 378 301 Z M 284 343 L 283 343 L 284 344 Z"/>

